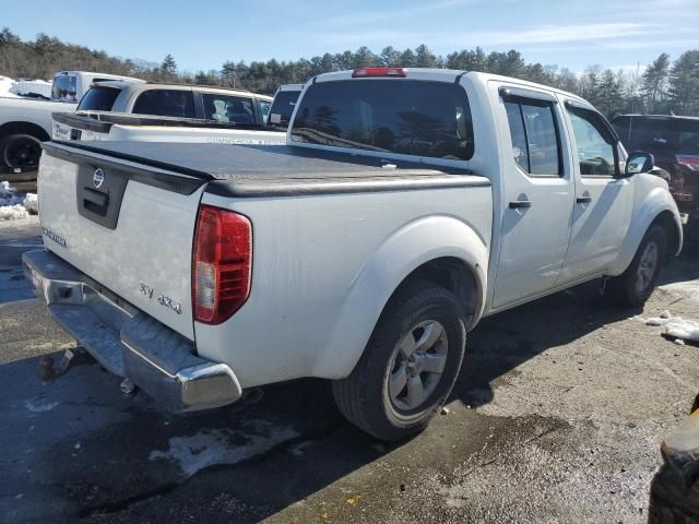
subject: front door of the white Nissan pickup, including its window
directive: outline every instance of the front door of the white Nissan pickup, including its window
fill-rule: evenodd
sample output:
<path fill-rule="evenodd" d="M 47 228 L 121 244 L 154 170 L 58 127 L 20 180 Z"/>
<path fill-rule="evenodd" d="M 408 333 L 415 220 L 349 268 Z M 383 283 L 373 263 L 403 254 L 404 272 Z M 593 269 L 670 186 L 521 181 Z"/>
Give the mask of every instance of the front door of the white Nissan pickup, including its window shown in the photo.
<path fill-rule="evenodd" d="M 566 100 L 576 204 L 559 283 L 604 272 L 617 257 L 633 211 L 633 179 L 619 178 L 618 139 L 592 107 Z"/>

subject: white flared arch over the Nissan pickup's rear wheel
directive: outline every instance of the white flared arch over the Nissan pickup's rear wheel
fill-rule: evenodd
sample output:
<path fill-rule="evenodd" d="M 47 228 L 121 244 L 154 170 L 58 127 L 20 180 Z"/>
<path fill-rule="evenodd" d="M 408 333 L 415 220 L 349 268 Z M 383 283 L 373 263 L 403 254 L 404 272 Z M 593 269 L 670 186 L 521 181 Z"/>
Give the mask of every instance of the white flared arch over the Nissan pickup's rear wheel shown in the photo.
<path fill-rule="evenodd" d="M 471 226 L 452 216 L 418 218 L 394 231 L 357 273 L 312 376 L 347 377 L 395 289 L 420 265 L 446 257 L 463 261 L 473 274 L 479 294 L 475 324 L 485 307 L 487 243 Z"/>

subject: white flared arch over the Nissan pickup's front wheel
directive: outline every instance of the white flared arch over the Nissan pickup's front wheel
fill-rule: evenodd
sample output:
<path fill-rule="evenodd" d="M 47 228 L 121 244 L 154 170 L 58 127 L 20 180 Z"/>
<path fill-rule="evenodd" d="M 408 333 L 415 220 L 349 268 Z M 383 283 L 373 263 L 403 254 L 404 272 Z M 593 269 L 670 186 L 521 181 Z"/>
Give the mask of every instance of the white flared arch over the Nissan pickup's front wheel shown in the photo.
<path fill-rule="evenodd" d="M 682 223 L 679 222 L 677 204 L 675 204 L 671 193 L 665 188 L 657 187 L 652 189 L 645 195 L 641 205 L 635 210 L 629 230 L 626 234 L 619 254 L 609 267 L 608 274 L 611 276 L 618 276 L 627 270 L 633 260 L 633 255 L 636 254 L 645 231 L 648 231 L 651 224 L 653 224 L 653 222 L 663 212 L 670 212 L 673 215 L 673 222 L 675 227 L 677 227 L 677 233 L 679 235 L 678 248 L 673 254 L 679 254 L 679 251 L 682 250 L 683 229 Z"/>

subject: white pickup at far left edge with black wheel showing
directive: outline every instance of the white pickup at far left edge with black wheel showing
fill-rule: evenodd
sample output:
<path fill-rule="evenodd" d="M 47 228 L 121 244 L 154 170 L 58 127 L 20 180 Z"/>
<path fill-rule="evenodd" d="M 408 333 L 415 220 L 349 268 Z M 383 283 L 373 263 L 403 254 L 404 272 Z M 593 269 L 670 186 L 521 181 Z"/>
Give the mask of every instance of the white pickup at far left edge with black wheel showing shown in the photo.
<path fill-rule="evenodd" d="M 55 111 L 72 111 L 93 82 L 125 79 L 86 71 L 60 71 L 54 76 L 51 102 L 26 97 L 0 97 L 0 172 L 36 170 L 40 143 L 51 138 Z M 129 82 L 142 82 L 125 79 Z"/>

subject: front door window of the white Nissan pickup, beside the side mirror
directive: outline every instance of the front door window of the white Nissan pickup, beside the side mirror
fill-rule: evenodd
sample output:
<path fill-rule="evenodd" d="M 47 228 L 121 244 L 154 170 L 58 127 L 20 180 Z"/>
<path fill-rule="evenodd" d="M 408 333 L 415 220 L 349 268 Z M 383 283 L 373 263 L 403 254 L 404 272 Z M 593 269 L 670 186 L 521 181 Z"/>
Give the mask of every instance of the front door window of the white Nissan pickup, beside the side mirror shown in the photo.
<path fill-rule="evenodd" d="M 580 175 L 611 177 L 616 174 L 616 140 L 602 117 L 588 109 L 568 108 L 576 135 Z"/>

